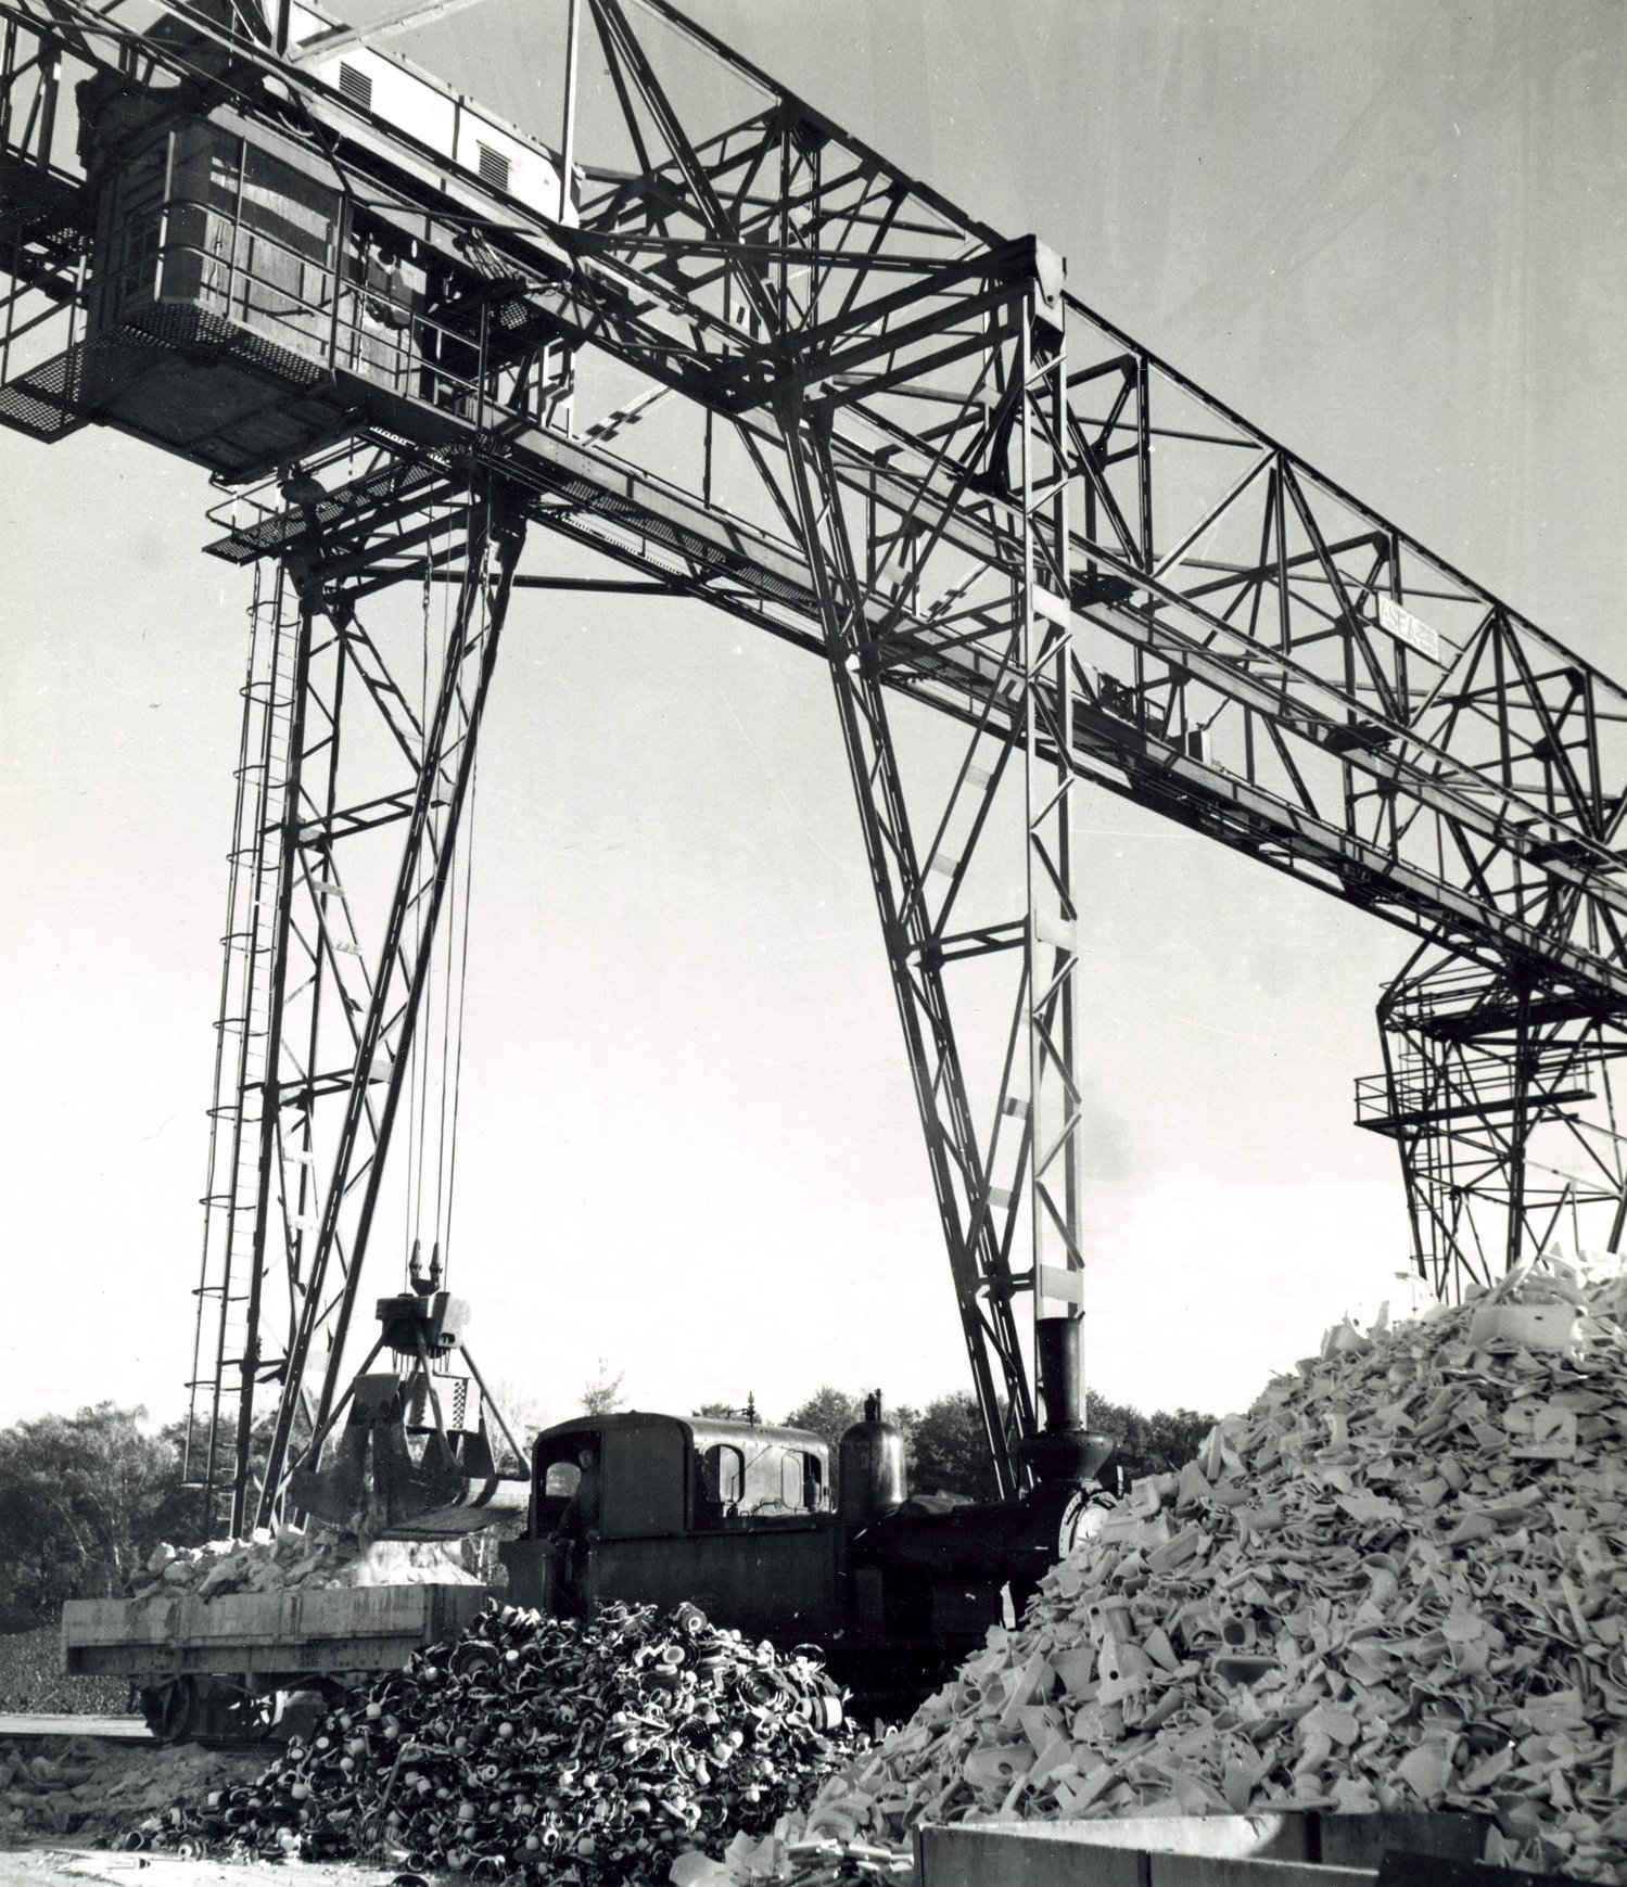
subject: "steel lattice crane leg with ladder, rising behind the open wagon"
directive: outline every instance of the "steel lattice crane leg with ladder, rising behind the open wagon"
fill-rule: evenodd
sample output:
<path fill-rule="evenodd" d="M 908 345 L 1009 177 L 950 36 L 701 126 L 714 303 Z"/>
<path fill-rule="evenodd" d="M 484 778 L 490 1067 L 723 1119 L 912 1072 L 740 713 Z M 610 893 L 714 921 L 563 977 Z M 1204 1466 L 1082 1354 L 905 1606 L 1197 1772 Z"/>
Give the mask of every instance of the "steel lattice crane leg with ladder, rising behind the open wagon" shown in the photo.
<path fill-rule="evenodd" d="M 234 1532 L 270 1519 L 291 1449 L 334 1408 L 374 1232 L 449 1242 L 455 1070 L 421 1025 L 459 1000 L 464 913 L 449 928 L 447 911 L 525 523 L 502 487 L 428 523 L 461 579 L 423 585 L 421 625 L 357 606 L 355 545 L 342 577 L 274 566 L 253 611 L 189 1423 L 189 1474 L 211 1511 L 232 1487 Z M 419 1132 L 391 1217 L 404 1104 Z"/>

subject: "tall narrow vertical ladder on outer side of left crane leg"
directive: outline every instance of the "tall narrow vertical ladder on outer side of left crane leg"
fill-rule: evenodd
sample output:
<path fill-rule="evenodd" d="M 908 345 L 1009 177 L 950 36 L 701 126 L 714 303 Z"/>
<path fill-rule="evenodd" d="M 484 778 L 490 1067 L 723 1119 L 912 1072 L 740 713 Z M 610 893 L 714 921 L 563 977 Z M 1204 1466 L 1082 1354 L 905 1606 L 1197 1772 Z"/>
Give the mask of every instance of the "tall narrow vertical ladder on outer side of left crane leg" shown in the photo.
<path fill-rule="evenodd" d="M 247 1462 L 236 1434 L 247 1398 L 253 1415 L 251 1315 L 262 1111 L 268 1104 L 270 1017 L 283 828 L 296 791 L 294 702 L 300 606 L 281 566 L 257 576 L 249 606 L 249 666 L 236 766 L 228 853 L 226 934 L 215 1023 L 215 1081 L 198 1268 L 196 1334 L 187 1408 L 183 1479 L 202 1493 L 213 1530 L 223 1491 L 242 1511 Z M 272 1102 L 276 1106 L 276 1102 Z"/>

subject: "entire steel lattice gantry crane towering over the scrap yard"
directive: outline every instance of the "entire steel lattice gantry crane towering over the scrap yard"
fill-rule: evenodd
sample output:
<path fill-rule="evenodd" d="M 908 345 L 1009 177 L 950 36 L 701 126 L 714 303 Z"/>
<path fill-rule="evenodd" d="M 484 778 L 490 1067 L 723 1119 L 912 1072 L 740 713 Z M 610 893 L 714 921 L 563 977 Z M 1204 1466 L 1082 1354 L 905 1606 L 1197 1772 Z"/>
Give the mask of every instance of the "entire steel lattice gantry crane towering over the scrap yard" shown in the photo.
<path fill-rule="evenodd" d="M 389 51 L 411 17 L 0 0 L 0 421 L 206 466 L 255 574 L 193 1410 L 234 1525 L 257 1415 L 262 1517 L 332 1417 L 404 1102 L 455 1089 L 425 1013 L 527 532 L 829 670 L 1002 1493 L 1076 1421 L 1085 783 L 1414 938 L 1357 1123 L 1436 1293 L 1618 1247 L 1621 687 L 666 0 L 540 34 L 553 145 Z"/>

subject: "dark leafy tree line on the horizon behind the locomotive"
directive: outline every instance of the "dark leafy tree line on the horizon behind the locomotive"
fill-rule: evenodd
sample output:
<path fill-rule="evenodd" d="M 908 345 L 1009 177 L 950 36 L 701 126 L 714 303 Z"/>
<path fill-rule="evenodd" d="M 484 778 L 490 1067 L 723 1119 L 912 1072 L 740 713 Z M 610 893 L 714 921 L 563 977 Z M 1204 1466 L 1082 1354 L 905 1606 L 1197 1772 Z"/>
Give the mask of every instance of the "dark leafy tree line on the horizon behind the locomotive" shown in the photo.
<path fill-rule="evenodd" d="M 583 1385 L 587 1413 L 621 1404 L 621 1378 L 600 1362 L 598 1378 Z M 738 1415 L 708 1404 L 696 1415 Z M 812 1428 L 834 1447 L 863 1417 L 863 1396 L 830 1385 L 785 1417 Z M 957 1391 L 925 1408 L 887 1408 L 902 1428 L 915 1493 L 995 1496 L 989 1451 L 976 1400 Z M 98 1402 L 77 1415 L 42 1415 L 0 1428 L 0 1632 L 21 1632 L 57 1617 L 64 1598 L 108 1598 L 160 1542 L 200 1545 L 219 1532 L 204 1519 L 198 1491 L 181 1485 L 185 1423 L 145 1432 L 147 1411 Z M 1114 1436 L 1108 1464 L 1125 1481 L 1161 1474 L 1189 1461 L 1212 1417 L 1191 1410 L 1142 1415 L 1138 1410 L 1091 1394 L 1087 1425 Z"/>

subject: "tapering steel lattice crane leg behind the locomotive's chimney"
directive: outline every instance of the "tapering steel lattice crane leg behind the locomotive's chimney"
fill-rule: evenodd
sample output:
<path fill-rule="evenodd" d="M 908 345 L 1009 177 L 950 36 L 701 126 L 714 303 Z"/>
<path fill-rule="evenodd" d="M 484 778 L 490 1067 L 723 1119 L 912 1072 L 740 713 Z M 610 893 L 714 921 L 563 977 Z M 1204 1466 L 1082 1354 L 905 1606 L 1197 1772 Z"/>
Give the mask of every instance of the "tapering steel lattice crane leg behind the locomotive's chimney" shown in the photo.
<path fill-rule="evenodd" d="M 1068 611 L 1061 602 L 1063 353 L 1059 328 L 1042 311 L 1036 315 L 1036 283 L 1019 281 L 1008 289 L 1004 308 L 980 309 L 987 326 L 976 377 L 1000 389 L 998 423 L 987 425 L 968 400 L 959 428 L 963 491 L 976 476 L 993 483 L 991 470 L 1004 485 L 1015 468 L 1015 481 L 989 506 L 991 513 L 1006 513 L 997 528 L 1017 545 L 1015 581 L 998 564 L 972 564 L 946 593 L 974 623 L 978 645 L 998 664 L 1021 711 L 1004 723 L 989 715 L 974 723 L 948 794 L 927 800 L 919 787 L 906 787 L 881 685 L 885 636 L 872 626 L 900 593 L 938 587 L 942 536 L 878 536 L 874 511 L 866 517 L 844 489 L 829 408 L 810 406 L 787 387 L 778 411 L 789 508 L 814 572 L 972 1381 L 1000 1493 L 1008 1496 L 1027 1483 L 1021 1442 L 1034 1432 L 1014 1294 L 1032 1291 L 1036 1315 L 1076 1321 L 1083 1311 L 1082 1125 L 1072 1060 L 1074 772 L 1059 738 L 1065 721 L 1055 717 L 1057 700 L 1066 702 L 1070 691 Z M 976 883 L 976 853 L 998 843 L 991 840 L 991 832 L 998 834 L 991 817 L 1002 783 L 1014 776 L 1023 806 L 1019 830 L 1027 834 L 1027 910 L 966 925 L 959 917 L 961 894 L 968 881 Z M 919 817 L 923 810 L 929 823 Z M 917 832 L 931 834 L 925 853 Z M 1006 953 L 1015 953 L 1017 962 L 1015 989 L 1006 994 L 1010 1028 L 998 1076 L 980 1094 L 957 1038 L 951 968 Z M 1029 1244 L 1025 1268 L 1012 1262 L 1021 1228 Z"/>

